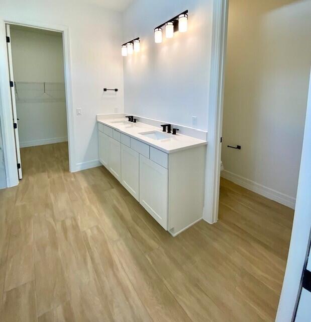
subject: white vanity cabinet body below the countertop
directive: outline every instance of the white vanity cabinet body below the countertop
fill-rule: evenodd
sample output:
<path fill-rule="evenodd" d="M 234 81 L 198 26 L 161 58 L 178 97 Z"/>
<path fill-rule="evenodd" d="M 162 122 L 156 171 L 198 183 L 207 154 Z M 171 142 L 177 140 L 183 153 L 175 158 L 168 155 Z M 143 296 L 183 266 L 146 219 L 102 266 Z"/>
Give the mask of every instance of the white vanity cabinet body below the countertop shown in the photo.
<path fill-rule="evenodd" d="M 98 123 L 99 161 L 171 235 L 203 213 L 206 145 L 165 153 Z"/>

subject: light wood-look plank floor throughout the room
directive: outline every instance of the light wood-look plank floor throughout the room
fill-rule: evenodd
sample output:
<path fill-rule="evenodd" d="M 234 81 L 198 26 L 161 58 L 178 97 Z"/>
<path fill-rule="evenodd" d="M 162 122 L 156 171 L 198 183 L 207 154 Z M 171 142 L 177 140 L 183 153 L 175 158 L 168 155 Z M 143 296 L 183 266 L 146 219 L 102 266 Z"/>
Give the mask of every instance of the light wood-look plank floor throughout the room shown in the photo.
<path fill-rule="evenodd" d="M 274 320 L 291 209 L 222 180 L 219 221 L 173 238 L 105 168 L 69 173 L 66 143 L 22 162 L 0 190 L 1 321 Z"/>

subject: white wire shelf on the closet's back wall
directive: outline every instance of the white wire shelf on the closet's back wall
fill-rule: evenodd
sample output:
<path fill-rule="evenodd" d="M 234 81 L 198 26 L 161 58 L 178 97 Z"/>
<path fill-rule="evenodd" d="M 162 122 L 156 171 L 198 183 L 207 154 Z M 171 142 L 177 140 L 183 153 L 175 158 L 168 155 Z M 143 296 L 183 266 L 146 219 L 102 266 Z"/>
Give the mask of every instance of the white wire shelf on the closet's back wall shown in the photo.
<path fill-rule="evenodd" d="M 65 83 L 14 82 L 17 103 L 65 102 Z"/>

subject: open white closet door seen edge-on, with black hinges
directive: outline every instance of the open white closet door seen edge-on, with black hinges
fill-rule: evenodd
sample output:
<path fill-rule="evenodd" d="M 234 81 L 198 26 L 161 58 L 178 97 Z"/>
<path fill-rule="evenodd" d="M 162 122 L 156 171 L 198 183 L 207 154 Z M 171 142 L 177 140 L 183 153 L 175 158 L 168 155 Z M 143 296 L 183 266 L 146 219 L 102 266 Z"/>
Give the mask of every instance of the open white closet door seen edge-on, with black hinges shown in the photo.
<path fill-rule="evenodd" d="M 16 113 L 16 100 L 15 100 L 15 83 L 13 75 L 13 61 L 12 61 L 12 51 L 11 51 L 11 34 L 10 25 L 6 25 L 7 33 L 7 50 L 8 50 L 8 60 L 9 60 L 9 73 L 10 73 L 10 88 L 11 88 L 11 104 L 12 104 L 12 114 L 13 114 L 13 126 L 15 135 L 15 149 L 17 158 L 17 169 L 19 174 L 19 179 L 23 178 L 22 173 L 22 163 L 21 163 L 21 151 L 20 151 L 20 140 L 19 140 L 19 130 L 18 130 L 18 118 Z"/>

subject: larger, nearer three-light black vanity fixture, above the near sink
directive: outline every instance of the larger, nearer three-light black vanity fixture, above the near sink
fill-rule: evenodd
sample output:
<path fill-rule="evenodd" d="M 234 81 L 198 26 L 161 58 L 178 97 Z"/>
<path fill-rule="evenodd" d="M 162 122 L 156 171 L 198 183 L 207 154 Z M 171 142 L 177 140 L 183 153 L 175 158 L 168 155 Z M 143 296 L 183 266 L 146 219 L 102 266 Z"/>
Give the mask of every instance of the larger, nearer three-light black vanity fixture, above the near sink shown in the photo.
<path fill-rule="evenodd" d="M 162 27 L 165 26 L 165 37 L 173 38 L 174 32 L 186 32 L 188 30 L 188 10 L 166 21 L 154 29 L 155 43 L 162 42 Z"/>

